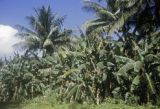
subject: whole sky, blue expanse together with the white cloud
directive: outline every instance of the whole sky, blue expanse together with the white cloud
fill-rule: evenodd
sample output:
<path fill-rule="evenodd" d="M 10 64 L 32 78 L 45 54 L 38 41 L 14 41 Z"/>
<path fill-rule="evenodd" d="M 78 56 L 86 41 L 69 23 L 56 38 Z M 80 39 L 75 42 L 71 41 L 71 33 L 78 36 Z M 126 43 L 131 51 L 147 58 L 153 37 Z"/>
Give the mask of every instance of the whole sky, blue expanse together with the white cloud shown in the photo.
<path fill-rule="evenodd" d="M 29 27 L 25 17 L 34 15 L 34 8 L 50 5 L 52 11 L 60 16 L 66 15 L 65 28 L 76 29 L 92 18 L 85 12 L 83 0 L 0 0 L 0 57 L 14 52 L 12 45 L 17 43 L 15 25 Z"/>

